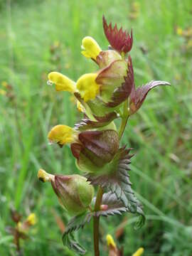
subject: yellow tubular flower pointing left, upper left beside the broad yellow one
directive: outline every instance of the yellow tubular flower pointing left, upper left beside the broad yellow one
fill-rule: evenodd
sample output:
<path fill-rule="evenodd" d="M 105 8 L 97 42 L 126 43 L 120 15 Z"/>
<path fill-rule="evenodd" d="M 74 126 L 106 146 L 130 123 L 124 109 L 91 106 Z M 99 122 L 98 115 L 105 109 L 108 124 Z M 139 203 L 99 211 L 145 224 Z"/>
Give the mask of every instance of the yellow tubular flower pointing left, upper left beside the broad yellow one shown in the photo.
<path fill-rule="evenodd" d="M 75 82 L 58 72 L 48 74 L 48 82 L 55 84 L 57 91 L 75 92 Z"/>

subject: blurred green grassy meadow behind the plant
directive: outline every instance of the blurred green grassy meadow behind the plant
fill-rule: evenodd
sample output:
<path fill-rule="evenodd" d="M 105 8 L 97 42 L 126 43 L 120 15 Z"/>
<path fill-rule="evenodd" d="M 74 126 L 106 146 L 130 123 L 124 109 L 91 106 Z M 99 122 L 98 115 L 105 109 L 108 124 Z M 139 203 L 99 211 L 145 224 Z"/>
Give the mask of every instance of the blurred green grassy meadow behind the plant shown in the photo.
<path fill-rule="evenodd" d="M 55 124 L 80 120 L 68 92 L 46 85 L 57 70 L 77 80 L 97 67 L 80 53 L 84 36 L 108 46 L 102 14 L 133 28 L 132 59 L 137 85 L 166 80 L 172 87 L 149 92 L 129 120 L 123 142 L 134 148 L 131 181 L 144 205 L 146 225 L 134 230 L 134 215 L 102 218 L 101 255 L 110 233 L 125 255 L 144 247 L 144 255 L 192 255 L 192 2 L 191 0 L 1 0 L 0 1 L 0 255 L 15 255 L 10 208 L 34 212 L 38 224 L 23 243 L 24 255 L 74 255 L 63 247 L 61 218 L 40 167 L 53 174 L 78 172 L 69 146 L 48 145 Z M 92 251 L 92 225 L 78 237 Z"/>

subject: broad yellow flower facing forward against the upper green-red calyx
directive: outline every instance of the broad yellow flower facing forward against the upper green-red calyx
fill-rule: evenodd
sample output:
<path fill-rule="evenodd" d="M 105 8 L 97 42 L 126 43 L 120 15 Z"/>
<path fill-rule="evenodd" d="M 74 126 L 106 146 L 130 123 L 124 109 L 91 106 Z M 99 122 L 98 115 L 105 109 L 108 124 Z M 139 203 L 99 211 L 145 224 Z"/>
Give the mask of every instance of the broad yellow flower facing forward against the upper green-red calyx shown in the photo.
<path fill-rule="evenodd" d="M 77 89 L 85 102 L 94 100 L 96 95 L 100 92 L 100 85 L 95 82 L 97 74 L 89 73 L 82 75 L 77 82 Z"/>

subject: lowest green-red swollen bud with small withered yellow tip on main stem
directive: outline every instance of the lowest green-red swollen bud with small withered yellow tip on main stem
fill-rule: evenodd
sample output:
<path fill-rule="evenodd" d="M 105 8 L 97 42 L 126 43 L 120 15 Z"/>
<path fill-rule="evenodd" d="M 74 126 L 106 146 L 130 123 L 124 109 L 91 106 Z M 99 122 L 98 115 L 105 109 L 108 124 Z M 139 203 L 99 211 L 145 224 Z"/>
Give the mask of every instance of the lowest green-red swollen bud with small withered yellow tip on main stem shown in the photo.
<path fill-rule="evenodd" d="M 38 178 L 41 181 L 50 181 L 58 196 L 58 200 L 71 215 L 83 213 L 92 201 L 94 188 L 87 182 L 87 178 L 74 175 L 51 175 L 40 169 Z"/>

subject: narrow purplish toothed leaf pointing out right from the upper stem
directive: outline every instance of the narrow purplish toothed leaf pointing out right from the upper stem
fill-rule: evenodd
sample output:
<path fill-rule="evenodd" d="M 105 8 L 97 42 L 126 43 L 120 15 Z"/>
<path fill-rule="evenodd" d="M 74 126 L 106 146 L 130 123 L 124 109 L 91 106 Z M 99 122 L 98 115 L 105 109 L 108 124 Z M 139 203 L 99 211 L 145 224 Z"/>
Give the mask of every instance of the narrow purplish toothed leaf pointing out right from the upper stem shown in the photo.
<path fill-rule="evenodd" d="M 158 85 L 170 85 L 170 83 L 165 81 L 152 80 L 151 82 L 148 82 L 146 85 L 142 85 L 141 87 L 138 87 L 137 90 L 133 88 L 132 93 L 130 95 L 130 101 L 129 101 L 130 114 L 134 114 L 134 112 L 137 112 L 137 110 L 139 110 L 148 92 Z"/>

